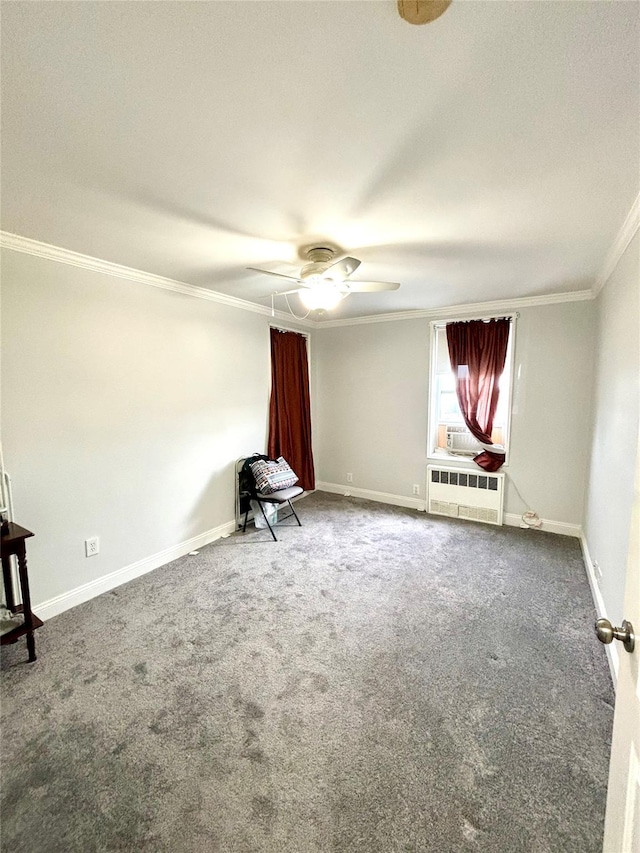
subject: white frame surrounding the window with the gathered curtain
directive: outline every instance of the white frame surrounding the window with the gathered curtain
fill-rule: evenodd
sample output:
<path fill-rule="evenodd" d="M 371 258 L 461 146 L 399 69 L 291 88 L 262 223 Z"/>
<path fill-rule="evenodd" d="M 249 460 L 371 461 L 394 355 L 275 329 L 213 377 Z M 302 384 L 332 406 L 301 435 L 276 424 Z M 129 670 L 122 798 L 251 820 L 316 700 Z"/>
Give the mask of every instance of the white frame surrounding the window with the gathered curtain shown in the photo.
<path fill-rule="evenodd" d="M 447 453 L 446 451 L 441 452 L 437 450 L 437 431 L 438 424 L 440 423 L 438 418 L 438 400 L 437 400 L 437 386 L 438 379 L 436 374 L 436 365 L 437 365 L 437 342 L 438 342 L 438 330 L 444 329 L 447 323 L 456 323 L 456 322 L 464 322 L 470 320 L 497 320 L 497 319 L 508 319 L 511 321 L 509 327 L 509 344 L 507 349 L 507 358 L 505 361 L 505 367 L 508 365 L 509 369 L 509 398 L 506 406 L 506 414 L 505 414 L 505 422 L 503 425 L 503 444 L 505 449 L 505 461 L 503 468 L 507 468 L 509 465 L 509 459 L 511 454 L 511 419 L 513 414 L 513 405 L 514 405 L 514 386 L 515 386 L 515 355 L 516 355 L 516 330 L 517 330 L 517 320 L 520 314 L 517 312 L 507 313 L 507 314 L 492 314 L 490 316 L 469 316 L 469 317 L 447 317 L 438 320 L 431 320 L 429 322 L 429 405 L 427 412 L 427 460 L 428 462 L 443 462 L 446 461 L 446 464 L 451 464 L 455 462 L 456 464 L 460 463 L 462 467 L 470 467 L 473 465 L 473 457 L 465 457 L 465 456 L 455 456 L 451 453 Z M 463 421 L 464 425 L 464 421 Z M 477 466 L 474 466 L 477 468 Z"/>

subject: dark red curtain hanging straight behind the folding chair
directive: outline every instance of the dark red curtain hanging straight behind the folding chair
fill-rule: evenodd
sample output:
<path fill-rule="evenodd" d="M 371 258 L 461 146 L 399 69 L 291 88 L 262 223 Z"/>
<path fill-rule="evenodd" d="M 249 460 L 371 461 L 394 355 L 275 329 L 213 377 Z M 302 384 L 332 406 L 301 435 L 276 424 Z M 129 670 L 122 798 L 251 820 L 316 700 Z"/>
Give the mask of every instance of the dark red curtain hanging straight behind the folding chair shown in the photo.
<path fill-rule="evenodd" d="M 273 459 L 284 456 L 298 475 L 298 485 L 315 489 L 311 450 L 311 404 L 307 339 L 271 329 L 271 403 L 269 446 Z"/>

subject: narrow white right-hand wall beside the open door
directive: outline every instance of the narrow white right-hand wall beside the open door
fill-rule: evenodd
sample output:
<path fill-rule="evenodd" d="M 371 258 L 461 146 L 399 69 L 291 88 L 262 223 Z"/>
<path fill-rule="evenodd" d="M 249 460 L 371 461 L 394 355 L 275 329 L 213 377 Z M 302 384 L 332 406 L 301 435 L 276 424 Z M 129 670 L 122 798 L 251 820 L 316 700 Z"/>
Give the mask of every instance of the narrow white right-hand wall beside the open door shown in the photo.
<path fill-rule="evenodd" d="M 585 538 L 607 615 L 620 624 L 640 408 L 640 234 L 596 301 L 597 358 Z"/>

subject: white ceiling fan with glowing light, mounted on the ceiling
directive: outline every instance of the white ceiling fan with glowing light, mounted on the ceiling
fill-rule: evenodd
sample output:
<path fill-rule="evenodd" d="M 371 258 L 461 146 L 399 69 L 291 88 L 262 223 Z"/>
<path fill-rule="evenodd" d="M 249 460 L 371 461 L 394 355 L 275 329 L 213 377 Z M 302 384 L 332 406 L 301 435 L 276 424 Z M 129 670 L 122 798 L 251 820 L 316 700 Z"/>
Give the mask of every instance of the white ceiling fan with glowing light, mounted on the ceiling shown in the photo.
<path fill-rule="evenodd" d="M 271 270 L 247 267 L 254 272 L 284 278 L 295 282 L 297 287 L 291 290 L 276 291 L 274 296 L 288 296 L 297 293 L 302 304 L 310 311 L 314 309 L 330 310 L 350 293 L 374 293 L 381 290 L 397 290 L 400 285 L 394 281 L 352 281 L 350 276 L 361 264 L 357 258 L 345 257 L 334 260 L 342 254 L 335 246 L 306 246 L 300 250 L 300 257 L 307 263 L 299 276 L 284 275 Z"/>

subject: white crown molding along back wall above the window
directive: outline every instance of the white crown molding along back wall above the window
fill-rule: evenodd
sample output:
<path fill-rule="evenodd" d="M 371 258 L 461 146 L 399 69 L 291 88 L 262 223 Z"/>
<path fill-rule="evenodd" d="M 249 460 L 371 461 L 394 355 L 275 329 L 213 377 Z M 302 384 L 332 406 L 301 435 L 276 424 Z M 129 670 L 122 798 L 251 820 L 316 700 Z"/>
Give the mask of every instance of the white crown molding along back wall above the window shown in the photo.
<path fill-rule="evenodd" d="M 554 305 L 559 302 L 587 302 L 593 299 L 590 290 L 574 290 L 568 293 L 548 293 L 544 296 L 522 296 L 517 299 L 502 299 L 495 302 L 475 302 L 463 305 L 448 305 L 445 308 L 425 308 L 415 311 L 397 311 L 391 314 L 373 314 L 369 317 L 353 317 L 344 320 L 322 320 L 316 323 L 321 329 L 335 326 L 362 326 L 366 323 L 390 323 L 395 320 L 439 320 L 459 314 L 509 313 L 518 308 L 537 305 Z"/>

